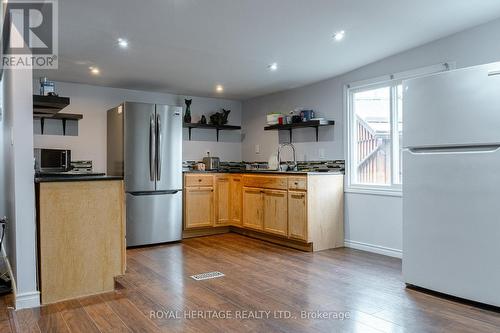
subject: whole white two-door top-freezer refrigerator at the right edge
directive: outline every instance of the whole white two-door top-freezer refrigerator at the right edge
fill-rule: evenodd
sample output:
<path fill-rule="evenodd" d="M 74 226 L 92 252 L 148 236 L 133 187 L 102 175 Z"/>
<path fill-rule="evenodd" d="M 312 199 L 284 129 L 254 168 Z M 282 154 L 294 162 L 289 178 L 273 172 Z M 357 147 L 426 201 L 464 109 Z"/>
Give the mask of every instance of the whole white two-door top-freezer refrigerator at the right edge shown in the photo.
<path fill-rule="evenodd" d="M 500 306 L 500 63 L 403 82 L 403 277 Z"/>

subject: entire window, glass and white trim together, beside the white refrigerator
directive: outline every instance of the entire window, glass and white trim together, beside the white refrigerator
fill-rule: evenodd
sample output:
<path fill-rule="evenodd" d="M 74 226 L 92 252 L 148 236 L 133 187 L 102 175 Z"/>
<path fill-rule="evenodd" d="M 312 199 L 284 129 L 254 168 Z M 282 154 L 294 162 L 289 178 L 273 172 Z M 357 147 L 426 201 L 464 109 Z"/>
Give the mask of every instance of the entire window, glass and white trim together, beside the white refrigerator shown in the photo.
<path fill-rule="evenodd" d="M 380 190 L 400 195 L 402 82 L 454 67 L 454 64 L 438 64 L 346 87 L 348 190 Z"/>

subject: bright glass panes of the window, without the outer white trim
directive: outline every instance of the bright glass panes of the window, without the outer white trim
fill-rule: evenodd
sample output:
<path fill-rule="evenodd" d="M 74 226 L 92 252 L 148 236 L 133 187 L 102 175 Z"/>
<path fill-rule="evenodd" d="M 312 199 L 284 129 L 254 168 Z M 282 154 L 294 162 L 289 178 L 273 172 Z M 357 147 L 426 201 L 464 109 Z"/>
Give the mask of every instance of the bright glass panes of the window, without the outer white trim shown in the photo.
<path fill-rule="evenodd" d="M 349 90 L 351 185 L 401 184 L 402 84 Z"/>

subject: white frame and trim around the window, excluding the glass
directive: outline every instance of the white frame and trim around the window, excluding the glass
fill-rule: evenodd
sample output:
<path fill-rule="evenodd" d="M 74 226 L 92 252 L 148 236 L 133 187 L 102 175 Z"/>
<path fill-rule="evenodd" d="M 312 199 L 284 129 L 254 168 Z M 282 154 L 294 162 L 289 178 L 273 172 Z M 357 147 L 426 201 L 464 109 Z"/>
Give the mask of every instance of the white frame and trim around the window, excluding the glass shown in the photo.
<path fill-rule="evenodd" d="M 398 124 L 394 121 L 397 117 L 397 86 L 401 84 L 403 80 L 417 78 L 421 76 L 436 74 L 439 72 L 444 72 L 447 70 L 455 69 L 456 64 L 454 62 L 447 62 L 437 65 L 432 65 L 428 67 L 423 67 L 415 70 L 400 72 L 396 74 L 386 75 L 382 77 L 377 77 L 370 80 L 353 82 L 346 84 L 344 86 L 344 119 L 345 121 L 345 151 L 346 151 L 346 186 L 345 192 L 348 193 L 361 193 L 361 194 L 375 194 L 375 195 L 385 195 L 385 196 L 402 196 L 402 184 L 395 184 L 395 158 L 399 156 L 399 151 L 395 151 L 396 147 L 394 144 L 395 134 L 398 132 Z M 391 183 L 389 185 L 378 185 L 378 184 L 359 184 L 353 183 L 355 177 L 355 149 L 353 149 L 355 143 L 353 142 L 353 126 L 355 125 L 354 110 L 352 107 L 353 101 L 352 96 L 354 92 L 363 91 L 367 89 L 376 89 L 382 87 L 391 87 Z M 404 117 L 403 117 L 404 123 Z"/>

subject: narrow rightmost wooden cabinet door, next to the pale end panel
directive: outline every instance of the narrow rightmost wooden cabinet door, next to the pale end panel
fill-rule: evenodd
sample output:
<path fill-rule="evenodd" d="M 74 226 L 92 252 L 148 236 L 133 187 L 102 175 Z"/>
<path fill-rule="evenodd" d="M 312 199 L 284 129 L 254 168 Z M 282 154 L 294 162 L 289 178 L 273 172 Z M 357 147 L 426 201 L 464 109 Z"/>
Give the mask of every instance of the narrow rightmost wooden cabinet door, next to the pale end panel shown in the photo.
<path fill-rule="evenodd" d="M 307 241 L 307 194 L 288 192 L 288 237 Z"/>

